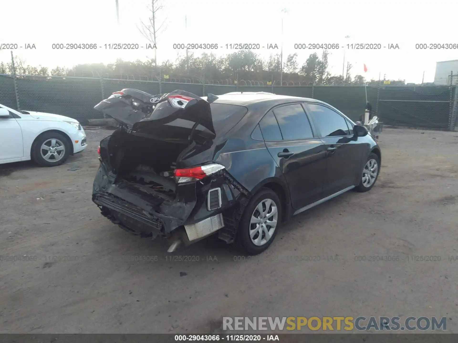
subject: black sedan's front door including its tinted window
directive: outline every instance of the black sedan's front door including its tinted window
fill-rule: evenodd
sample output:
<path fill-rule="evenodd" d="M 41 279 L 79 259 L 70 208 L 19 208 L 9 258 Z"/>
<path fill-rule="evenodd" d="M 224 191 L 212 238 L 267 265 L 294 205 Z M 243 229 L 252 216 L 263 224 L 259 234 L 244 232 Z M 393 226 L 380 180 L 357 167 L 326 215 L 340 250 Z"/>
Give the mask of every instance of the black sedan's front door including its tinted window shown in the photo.
<path fill-rule="evenodd" d="M 361 174 L 362 149 L 364 147 L 353 137 L 353 128 L 340 113 L 320 103 L 306 103 L 317 134 L 326 148 L 326 180 L 323 197 L 353 186 Z"/>

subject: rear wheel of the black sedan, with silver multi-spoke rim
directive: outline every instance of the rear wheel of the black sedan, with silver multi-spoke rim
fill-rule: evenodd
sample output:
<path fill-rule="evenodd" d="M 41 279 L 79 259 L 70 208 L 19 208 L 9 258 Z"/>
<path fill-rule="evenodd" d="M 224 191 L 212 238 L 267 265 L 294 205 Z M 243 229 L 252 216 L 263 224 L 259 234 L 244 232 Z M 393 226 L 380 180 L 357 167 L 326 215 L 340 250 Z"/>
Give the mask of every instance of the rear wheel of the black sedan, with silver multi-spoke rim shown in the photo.
<path fill-rule="evenodd" d="M 270 188 L 262 188 L 245 208 L 237 231 L 238 245 L 249 255 L 257 255 L 272 244 L 282 218 L 280 198 Z"/>

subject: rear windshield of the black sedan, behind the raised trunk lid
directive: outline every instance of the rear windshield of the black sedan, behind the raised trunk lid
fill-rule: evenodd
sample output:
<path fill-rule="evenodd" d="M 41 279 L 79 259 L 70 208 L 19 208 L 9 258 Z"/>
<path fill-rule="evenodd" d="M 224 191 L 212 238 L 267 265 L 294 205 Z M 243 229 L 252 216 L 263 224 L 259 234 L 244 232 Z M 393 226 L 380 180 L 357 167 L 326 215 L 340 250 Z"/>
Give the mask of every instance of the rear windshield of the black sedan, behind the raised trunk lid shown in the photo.
<path fill-rule="evenodd" d="M 248 108 L 238 105 L 229 105 L 212 102 L 213 127 L 218 136 L 228 133 L 240 119 L 248 112 Z"/>

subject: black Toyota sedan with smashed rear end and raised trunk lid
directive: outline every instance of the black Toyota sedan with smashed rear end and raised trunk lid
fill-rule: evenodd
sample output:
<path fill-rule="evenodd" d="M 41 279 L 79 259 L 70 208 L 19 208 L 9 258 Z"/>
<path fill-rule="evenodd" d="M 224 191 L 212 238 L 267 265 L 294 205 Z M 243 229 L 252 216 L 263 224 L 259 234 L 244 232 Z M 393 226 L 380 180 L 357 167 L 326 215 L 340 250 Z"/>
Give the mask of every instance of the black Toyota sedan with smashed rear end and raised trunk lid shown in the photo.
<path fill-rule="evenodd" d="M 285 220 L 380 171 L 367 129 L 315 99 L 123 89 L 94 108 L 120 125 L 100 142 L 93 202 L 169 252 L 215 234 L 258 254 Z"/>

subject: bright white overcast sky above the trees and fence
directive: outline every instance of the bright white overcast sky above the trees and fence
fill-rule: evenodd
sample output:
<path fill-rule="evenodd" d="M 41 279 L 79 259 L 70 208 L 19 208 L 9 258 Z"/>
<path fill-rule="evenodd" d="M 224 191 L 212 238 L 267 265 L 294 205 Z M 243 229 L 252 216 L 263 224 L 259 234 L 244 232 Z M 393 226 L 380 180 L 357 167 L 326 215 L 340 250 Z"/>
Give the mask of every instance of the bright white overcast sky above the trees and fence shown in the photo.
<path fill-rule="evenodd" d="M 260 1 L 260 0 L 159 0 L 163 8 L 157 12 L 159 24 L 165 30 L 158 34 L 157 59 L 174 62 L 185 56 L 185 50 L 174 49 L 174 43 L 214 43 L 216 50 L 195 50 L 217 56 L 236 50 L 226 44 L 259 43 L 267 47 L 277 44 L 278 50 L 260 48 L 255 52 L 268 59 L 280 53 L 283 60 L 297 53 L 299 65 L 307 57 L 322 50 L 295 49 L 300 43 L 338 43 L 339 49 L 329 50 L 329 70 L 342 75 L 349 62 L 351 75 L 363 75 L 366 80 L 406 80 L 432 82 L 436 62 L 458 59 L 456 49 L 416 49 L 424 43 L 454 43 L 458 45 L 456 13 L 458 1 Z M 149 6 L 149 9 L 148 9 Z M 56 65 L 72 67 L 83 63 L 112 63 L 117 58 L 146 60 L 153 50 L 105 49 L 104 44 L 137 43 L 147 40 L 138 27 L 150 16 L 151 0 L 119 0 L 120 24 L 116 19 L 115 0 L 15 0 L 2 3 L 1 43 L 17 43 L 13 53 L 26 64 L 50 69 Z M 282 10 L 285 9 L 285 12 Z M 10 14 L 6 15 L 5 14 Z M 187 19 L 187 27 L 185 25 Z M 283 18 L 283 34 L 282 34 Z M 349 36 L 349 38 L 345 38 Z M 27 43 L 36 49 L 20 48 Z M 57 50 L 53 43 L 96 43 L 95 50 Z M 380 44 L 381 49 L 342 48 L 346 44 Z M 398 44 L 398 49 L 388 49 Z M 386 47 L 386 48 L 383 48 Z M 11 61 L 11 50 L 0 50 L 0 61 Z M 364 64 L 367 72 L 364 71 Z"/>

